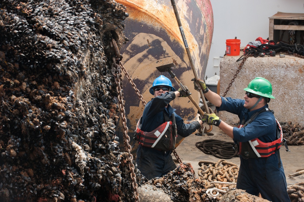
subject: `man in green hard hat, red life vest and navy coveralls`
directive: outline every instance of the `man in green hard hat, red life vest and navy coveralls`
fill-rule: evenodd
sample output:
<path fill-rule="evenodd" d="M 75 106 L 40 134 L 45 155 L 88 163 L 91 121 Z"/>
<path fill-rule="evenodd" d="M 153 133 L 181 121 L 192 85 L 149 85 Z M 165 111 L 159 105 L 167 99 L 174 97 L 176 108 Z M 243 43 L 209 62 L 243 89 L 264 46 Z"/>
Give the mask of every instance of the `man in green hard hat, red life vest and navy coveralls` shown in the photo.
<path fill-rule="evenodd" d="M 271 83 L 256 77 L 244 88 L 244 100 L 224 98 L 210 91 L 204 81 L 194 81 L 195 90 L 216 106 L 217 111 L 238 115 L 239 127 L 223 122 L 215 113 L 204 115 L 209 125 L 218 126 L 236 143 L 234 149 L 240 154 L 237 189 L 261 196 L 273 202 L 290 201 L 279 149 L 284 142 L 282 129 L 268 108 L 272 95 Z M 285 143 L 286 150 L 287 144 Z M 289 151 L 289 150 L 288 150 Z"/>

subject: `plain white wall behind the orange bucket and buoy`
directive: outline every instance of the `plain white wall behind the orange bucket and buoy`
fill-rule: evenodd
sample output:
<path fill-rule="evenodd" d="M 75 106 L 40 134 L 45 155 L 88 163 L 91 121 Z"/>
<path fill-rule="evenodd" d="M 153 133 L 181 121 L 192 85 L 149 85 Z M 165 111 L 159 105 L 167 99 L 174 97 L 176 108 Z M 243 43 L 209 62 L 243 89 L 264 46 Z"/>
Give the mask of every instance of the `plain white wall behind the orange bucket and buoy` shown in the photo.
<path fill-rule="evenodd" d="M 257 37 L 267 39 L 270 16 L 277 12 L 304 13 L 303 0 L 210 1 L 214 30 L 206 69 L 208 78 L 214 73 L 219 75 L 219 62 L 226 51 L 226 39 L 237 37 L 241 40 L 241 47 Z"/>

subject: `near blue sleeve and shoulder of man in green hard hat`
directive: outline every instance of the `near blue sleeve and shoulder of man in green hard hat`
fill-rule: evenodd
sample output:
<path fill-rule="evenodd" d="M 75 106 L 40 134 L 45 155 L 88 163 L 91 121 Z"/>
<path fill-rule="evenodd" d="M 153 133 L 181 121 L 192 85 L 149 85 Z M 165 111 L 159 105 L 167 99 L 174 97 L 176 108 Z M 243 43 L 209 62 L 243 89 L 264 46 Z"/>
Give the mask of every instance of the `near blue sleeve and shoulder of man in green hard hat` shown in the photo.
<path fill-rule="evenodd" d="M 276 123 L 272 117 L 266 114 L 260 114 L 246 127 L 234 127 L 233 139 L 237 142 L 247 142 L 249 140 L 262 137 L 263 139 L 261 139 L 261 141 L 272 142 L 275 140 L 275 127 Z"/>

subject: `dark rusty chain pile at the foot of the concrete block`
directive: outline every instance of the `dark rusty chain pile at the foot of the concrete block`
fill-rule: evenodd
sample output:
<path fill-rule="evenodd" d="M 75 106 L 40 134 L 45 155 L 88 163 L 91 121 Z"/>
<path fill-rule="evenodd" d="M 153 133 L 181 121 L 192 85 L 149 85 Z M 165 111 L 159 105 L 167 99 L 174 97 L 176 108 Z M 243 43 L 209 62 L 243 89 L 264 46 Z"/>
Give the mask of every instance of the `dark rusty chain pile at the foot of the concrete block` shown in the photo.
<path fill-rule="evenodd" d="M 280 125 L 288 145 L 304 145 L 304 127 L 292 122 L 280 122 Z"/>

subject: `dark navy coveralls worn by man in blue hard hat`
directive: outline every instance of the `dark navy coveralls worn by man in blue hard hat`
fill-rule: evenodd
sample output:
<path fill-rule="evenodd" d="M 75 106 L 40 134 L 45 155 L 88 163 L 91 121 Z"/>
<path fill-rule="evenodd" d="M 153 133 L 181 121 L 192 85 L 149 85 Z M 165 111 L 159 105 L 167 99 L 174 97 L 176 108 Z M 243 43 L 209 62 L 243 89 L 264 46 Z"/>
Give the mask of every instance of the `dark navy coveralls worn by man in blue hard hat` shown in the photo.
<path fill-rule="evenodd" d="M 185 124 L 183 119 L 174 112 L 175 109 L 169 104 L 174 98 L 175 94 L 171 91 L 149 101 L 143 110 L 141 130 L 151 132 L 166 122 L 163 113 L 167 113 L 168 117 L 171 117 L 172 113 L 174 113 L 177 133 L 182 137 L 187 137 L 199 129 L 201 125 L 198 121 Z M 166 107 L 167 104 L 168 107 Z M 137 168 L 148 180 L 164 176 L 176 168 L 171 152 L 172 151 L 160 151 L 139 145 L 136 152 Z"/>

